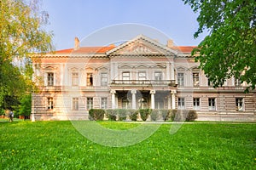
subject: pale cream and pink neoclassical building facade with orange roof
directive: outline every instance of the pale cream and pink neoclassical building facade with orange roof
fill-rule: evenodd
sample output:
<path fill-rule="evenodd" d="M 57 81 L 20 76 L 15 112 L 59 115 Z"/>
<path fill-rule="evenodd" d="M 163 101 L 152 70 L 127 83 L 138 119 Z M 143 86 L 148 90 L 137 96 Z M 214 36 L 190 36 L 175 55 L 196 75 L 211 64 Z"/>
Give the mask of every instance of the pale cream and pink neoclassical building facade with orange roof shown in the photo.
<path fill-rule="evenodd" d="M 212 88 L 191 56 L 193 48 L 143 35 L 119 46 L 79 47 L 76 38 L 74 48 L 34 61 L 39 90 L 32 111 L 39 119 L 86 119 L 92 108 L 254 113 L 255 91 L 244 94 L 247 84 L 234 78 Z"/>

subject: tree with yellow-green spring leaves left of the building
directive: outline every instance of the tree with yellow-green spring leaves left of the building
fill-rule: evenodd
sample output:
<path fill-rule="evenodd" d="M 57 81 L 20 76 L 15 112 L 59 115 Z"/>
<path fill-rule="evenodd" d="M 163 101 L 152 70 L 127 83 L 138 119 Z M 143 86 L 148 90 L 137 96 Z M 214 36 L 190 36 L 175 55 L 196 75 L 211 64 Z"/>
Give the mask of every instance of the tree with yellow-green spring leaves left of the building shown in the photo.
<path fill-rule="evenodd" d="M 6 96 L 31 92 L 33 54 L 53 49 L 52 33 L 44 30 L 48 14 L 32 0 L 0 1 L 0 105 Z"/>

